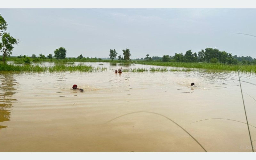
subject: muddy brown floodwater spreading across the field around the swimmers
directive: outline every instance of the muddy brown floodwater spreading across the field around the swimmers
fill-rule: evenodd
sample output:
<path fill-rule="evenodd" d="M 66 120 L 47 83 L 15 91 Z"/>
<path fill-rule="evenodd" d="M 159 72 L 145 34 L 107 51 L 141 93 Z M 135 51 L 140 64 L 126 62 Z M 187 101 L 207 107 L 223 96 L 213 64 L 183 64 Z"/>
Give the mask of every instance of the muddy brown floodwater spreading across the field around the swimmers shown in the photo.
<path fill-rule="evenodd" d="M 256 150 L 255 74 L 243 105 L 237 72 L 84 64 L 108 71 L 0 72 L 1 152 L 252 152 L 244 105 Z"/>

